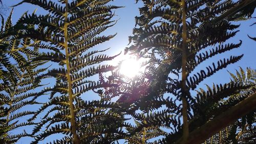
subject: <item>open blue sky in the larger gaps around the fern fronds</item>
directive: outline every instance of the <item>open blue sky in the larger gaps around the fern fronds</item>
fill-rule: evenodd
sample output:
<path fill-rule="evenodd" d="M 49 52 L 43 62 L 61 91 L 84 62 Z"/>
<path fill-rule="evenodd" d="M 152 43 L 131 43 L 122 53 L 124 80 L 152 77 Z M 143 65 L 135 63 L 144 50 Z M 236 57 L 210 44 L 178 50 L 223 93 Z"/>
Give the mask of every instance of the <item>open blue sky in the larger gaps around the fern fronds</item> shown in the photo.
<path fill-rule="evenodd" d="M 3 0 L 3 4 L 5 6 L 12 6 L 14 4 L 17 4 L 20 1 L 16 0 Z M 116 37 L 114 37 L 112 40 L 107 41 L 103 44 L 97 45 L 95 49 L 106 49 L 111 47 L 108 52 L 106 52 L 107 55 L 113 56 L 120 52 L 124 51 L 124 48 L 127 47 L 128 36 L 132 36 L 132 30 L 135 27 L 135 20 L 134 17 L 139 15 L 138 8 L 141 7 L 141 3 L 135 5 L 135 0 L 115 0 L 113 5 L 117 6 L 125 6 L 124 8 L 117 9 L 115 11 L 115 14 L 117 15 L 115 18 L 119 19 L 115 26 L 108 29 L 106 31 L 106 34 L 115 34 L 117 33 Z M 24 12 L 29 11 L 29 13 L 32 13 L 37 6 L 29 5 L 29 4 L 23 4 L 20 6 L 17 6 L 14 8 L 13 12 L 13 22 L 17 20 Z M 44 13 L 44 10 L 38 8 L 36 13 Z M 9 12 L 7 12 L 8 16 Z M 254 13 L 253 16 L 255 17 L 256 14 Z M 239 28 L 240 32 L 230 40 L 229 42 L 233 43 L 239 43 L 239 40 L 242 40 L 243 43 L 239 49 L 234 49 L 232 51 L 226 52 L 224 54 L 220 54 L 217 57 L 211 58 L 210 60 L 202 63 L 200 67 L 197 69 L 204 68 L 207 65 L 211 65 L 212 62 L 217 62 L 220 58 L 229 58 L 230 55 L 238 56 L 241 54 L 244 54 L 244 57 L 237 63 L 228 65 L 225 69 L 221 69 L 217 72 L 214 76 L 207 78 L 205 81 L 201 83 L 201 87 L 205 87 L 203 84 L 209 84 L 212 85 L 212 83 L 225 83 L 229 82 L 229 74 L 227 73 L 227 70 L 229 70 L 231 73 L 235 72 L 235 69 L 239 69 L 239 66 L 242 68 L 251 67 L 256 68 L 256 45 L 255 42 L 247 37 L 247 34 L 251 37 L 256 37 L 256 25 L 249 27 L 252 23 L 255 22 L 255 19 L 251 19 L 248 21 L 239 21 L 238 24 L 241 23 L 241 26 Z M 124 56 L 121 54 L 116 60 L 114 60 L 113 64 L 116 64 L 120 59 L 122 59 Z M 27 143 L 28 139 L 21 139 L 18 141 L 18 143 Z"/>

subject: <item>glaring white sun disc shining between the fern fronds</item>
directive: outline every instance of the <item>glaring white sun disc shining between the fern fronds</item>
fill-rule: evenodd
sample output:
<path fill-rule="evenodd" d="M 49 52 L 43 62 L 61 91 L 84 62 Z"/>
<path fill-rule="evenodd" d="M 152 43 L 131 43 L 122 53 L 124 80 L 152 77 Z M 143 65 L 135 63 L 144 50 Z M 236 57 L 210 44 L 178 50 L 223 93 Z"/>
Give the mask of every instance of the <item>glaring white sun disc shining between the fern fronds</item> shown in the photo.
<path fill-rule="evenodd" d="M 121 63 L 120 73 L 126 77 L 133 78 L 135 77 L 140 71 L 140 63 L 134 59 L 129 58 Z"/>

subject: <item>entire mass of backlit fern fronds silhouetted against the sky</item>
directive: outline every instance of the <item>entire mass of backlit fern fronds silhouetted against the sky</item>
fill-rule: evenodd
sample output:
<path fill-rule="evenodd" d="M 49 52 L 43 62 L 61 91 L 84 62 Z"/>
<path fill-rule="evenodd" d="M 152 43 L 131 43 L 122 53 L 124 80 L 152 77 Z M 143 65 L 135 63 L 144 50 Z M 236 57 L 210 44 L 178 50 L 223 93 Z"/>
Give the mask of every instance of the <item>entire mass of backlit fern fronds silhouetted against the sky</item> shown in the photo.
<path fill-rule="evenodd" d="M 32 143 L 255 143 L 256 107 L 248 101 L 255 98 L 254 69 L 199 88 L 243 57 L 208 64 L 241 46 L 241 40 L 230 42 L 239 28 L 233 21 L 250 19 L 254 0 L 142 0 L 125 49 L 145 60 L 144 73 L 134 78 L 105 64 L 116 57 L 102 54 L 108 49 L 94 50 L 115 36 L 102 35 L 116 23 L 119 7 L 110 1 L 23 0 L 16 6 L 33 4 L 46 14 L 25 13 L 14 26 L 11 15 L 2 22 L 0 143 L 25 136 Z M 27 105 L 33 111 L 24 110 Z M 230 117 L 238 105 L 242 112 Z M 11 135 L 24 126 L 34 126 L 32 133 Z"/>

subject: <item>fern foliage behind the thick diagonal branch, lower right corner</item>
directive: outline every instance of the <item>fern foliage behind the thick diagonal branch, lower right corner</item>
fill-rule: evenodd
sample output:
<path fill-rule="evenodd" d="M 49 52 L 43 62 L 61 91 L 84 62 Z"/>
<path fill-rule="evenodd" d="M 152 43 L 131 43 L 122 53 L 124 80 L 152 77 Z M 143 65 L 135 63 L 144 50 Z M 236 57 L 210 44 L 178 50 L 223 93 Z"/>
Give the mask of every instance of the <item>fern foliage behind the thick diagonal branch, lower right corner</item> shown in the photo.
<path fill-rule="evenodd" d="M 239 71 L 237 70 L 236 75 L 231 73 L 230 75 L 232 78 L 231 82 L 240 84 L 247 88 L 234 94 L 230 93 L 229 99 L 222 101 L 218 106 L 214 107 L 214 109 L 216 108 L 218 109 L 218 111 L 223 111 L 228 106 L 237 104 L 238 101 L 244 100 L 250 94 L 256 91 L 255 69 L 247 68 L 246 71 L 244 71 L 242 68 L 240 68 Z M 204 92 L 209 92 L 209 90 Z M 211 141 L 214 141 L 216 143 L 255 143 L 255 114 L 256 111 L 252 111 L 248 115 L 241 117 L 232 125 L 227 126 L 219 133 L 207 139 L 206 143 L 210 143 Z"/>

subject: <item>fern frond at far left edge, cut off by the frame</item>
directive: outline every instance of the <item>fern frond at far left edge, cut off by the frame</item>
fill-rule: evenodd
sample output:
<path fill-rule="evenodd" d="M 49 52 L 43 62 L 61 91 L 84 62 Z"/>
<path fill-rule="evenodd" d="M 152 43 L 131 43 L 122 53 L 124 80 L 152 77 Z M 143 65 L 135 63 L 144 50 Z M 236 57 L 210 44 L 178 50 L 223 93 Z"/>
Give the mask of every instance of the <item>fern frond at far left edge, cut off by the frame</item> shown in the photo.
<path fill-rule="evenodd" d="M 2 15 L 1 15 L 2 16 Z M 11 134 L 11 131 L 35 125 L 26 122 L 27 116 L 34 114 L 33 110 L 24 110 L 26 106 L 38 104 L 32 98 L 37 95 L 34 91 L 40 86 L 40 79 L 35 82 L 37 75 L 46 68 L 38 68 L 44 61 L 33 61 L 39 53 L 36 44 L 39 42 L 31 38 L 30 30 L 33 25 L 16 23 L 12 25 L 12 12 L 6 22 L 2 17 L 0 31 L 0 141 L 1 143 L 14 143 L 19 138 L 32 136 L 26 131 Z M 34 29 L 35 30 L 35 29 Z M 22 118 L 21 118 L 22 117 Z"/>

